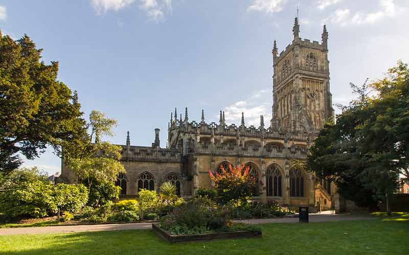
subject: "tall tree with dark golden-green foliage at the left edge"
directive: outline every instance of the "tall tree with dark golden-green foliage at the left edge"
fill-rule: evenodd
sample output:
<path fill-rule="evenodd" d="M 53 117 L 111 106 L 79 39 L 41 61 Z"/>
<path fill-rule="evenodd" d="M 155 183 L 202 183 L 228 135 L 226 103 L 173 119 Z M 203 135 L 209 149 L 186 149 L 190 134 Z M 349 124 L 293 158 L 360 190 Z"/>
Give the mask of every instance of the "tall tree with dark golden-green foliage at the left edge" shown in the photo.
<path fill-rule="evenodd" d="M 0 32 L 0 171 L 38 157 L 47 145 L 60 156 L 64 141 L 85 134 L 76 92 L 57 81 L 58 62 L 40 62 L 42 49 L 25 35 Z"/>

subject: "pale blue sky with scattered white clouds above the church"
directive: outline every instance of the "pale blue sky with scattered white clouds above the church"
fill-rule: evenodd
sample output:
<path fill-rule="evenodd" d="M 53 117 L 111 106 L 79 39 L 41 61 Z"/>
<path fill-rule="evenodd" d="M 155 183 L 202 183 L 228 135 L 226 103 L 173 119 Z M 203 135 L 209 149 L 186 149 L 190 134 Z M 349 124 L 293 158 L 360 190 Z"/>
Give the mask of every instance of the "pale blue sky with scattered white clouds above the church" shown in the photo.
<path fill-rule="evenodd" d="M 321 42 L 327 25 L 334 104 L 353 98 L 350 82 L 409 61 L 406 0 L 10 0 L 0 1 L 0 29 L 59 61 L 84 116 L 118 121 L 106 140 L 124 144 L 129 131 L 131 145 L 150 146 L 157 127 L 165 147 L 175 107 L 197 122 L 202 109 L 207 122 L 220 110 L 236 125 L 241 112 L 246 125 L 271 118 L 272 43 L 279 52 L 291 43 L 297 8 L 300 37 Z M 54 173 L 60 162 L 47 149 L 24 166 Z"/>

